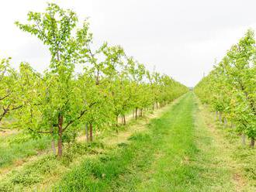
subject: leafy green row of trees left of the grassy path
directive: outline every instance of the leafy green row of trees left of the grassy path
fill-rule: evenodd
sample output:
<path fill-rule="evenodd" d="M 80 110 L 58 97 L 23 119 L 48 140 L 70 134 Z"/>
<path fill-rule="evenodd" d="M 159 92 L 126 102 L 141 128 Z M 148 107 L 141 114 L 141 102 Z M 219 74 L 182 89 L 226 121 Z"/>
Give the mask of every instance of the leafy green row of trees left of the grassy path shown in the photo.
<path fill-rule="evenodd" d="M 9 59 L 2 60 L 0 118 L 6 110 L 19 109 L 13 113 L 19 127 L 35 137 L 52 135 L 58 156 L 64 139 L 75 138 L 80 125 L 89 125 L 92 139 L 93 127 L 117 130 L 120 115 L 166 105 L 188 91 L 167 75 L 150 73 L 121 46 L 102 43 L 92 49 L 88 20 L 78 27 L 78 17 L 69 9 L 48 3 L 45 12 L 27 16 L 27 23 L 16 26 L 47 46 L 49 67 L 40 74 L 29 63 L 21 63 L 16 71 Z"/>

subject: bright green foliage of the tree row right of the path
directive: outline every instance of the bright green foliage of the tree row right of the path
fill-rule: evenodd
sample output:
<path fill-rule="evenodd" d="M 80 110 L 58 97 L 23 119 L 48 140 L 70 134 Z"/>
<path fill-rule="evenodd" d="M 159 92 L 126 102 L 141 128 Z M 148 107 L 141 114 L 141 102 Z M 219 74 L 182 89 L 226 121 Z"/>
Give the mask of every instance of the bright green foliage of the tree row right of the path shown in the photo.
<path fill-rule="evenodd" d="M 255 59 L 254 33 L 248 30 L 195 87 L 199 98 L 236 125 L 237 132 L 247 135 L 252 146 L 256 137 Z"/>

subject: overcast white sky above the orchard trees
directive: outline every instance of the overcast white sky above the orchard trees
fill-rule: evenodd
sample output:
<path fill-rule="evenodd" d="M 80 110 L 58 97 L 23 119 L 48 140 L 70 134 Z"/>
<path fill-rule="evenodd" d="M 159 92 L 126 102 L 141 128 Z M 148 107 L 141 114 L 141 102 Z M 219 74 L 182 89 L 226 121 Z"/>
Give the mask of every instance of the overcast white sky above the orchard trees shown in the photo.
<path fill-rule="evenodd" d="M 0 0 L 0 58 L 12 66 L 29 62 L 42 72 L 50 53 L 39 39 L 24 33 L 29 11 L 43 12 L 47 2 L 88 18 L 95 46 L 123 46 L 149 69 L 193 87 L 220 61 L 247 29 L 256 29 L 255 0 Z"/>

